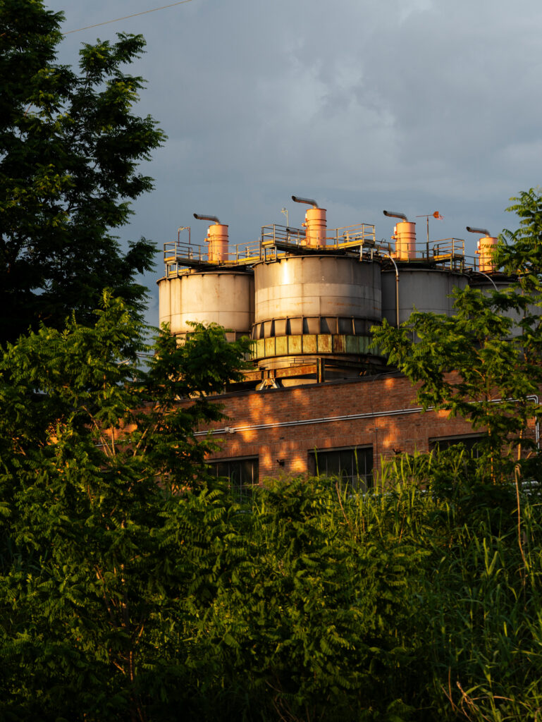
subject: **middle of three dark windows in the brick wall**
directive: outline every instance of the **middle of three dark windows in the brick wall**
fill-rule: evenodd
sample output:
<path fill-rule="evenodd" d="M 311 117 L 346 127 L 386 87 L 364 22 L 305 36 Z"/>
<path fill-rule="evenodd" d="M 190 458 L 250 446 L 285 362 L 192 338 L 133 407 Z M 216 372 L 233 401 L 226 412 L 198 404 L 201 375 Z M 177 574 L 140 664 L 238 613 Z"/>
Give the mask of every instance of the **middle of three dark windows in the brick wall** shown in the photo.
<path fill-rule="evenodd" d="M 339 479 L 357 491 L 372 487 L 372 446 L 315 449 L 309 452 L 309 471 L 315 477 Z"/>

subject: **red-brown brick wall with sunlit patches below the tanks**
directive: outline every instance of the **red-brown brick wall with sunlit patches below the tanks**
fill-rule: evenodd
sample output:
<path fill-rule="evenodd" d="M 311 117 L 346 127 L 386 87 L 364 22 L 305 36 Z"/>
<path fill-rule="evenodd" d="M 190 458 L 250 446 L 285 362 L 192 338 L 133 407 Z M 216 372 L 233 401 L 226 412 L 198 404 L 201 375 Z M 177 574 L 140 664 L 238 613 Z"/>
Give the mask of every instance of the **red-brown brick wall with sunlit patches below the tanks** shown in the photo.
<path fill-rule="evenodd" d="M 414 388 L 401 375 L 238 391 L 217 402 L 229 418 L 209 426 L 222 445 L 209 458 L 258 456 L 261 480 L 307 473 L 315 449 L 370 445 L 378 470 L 398 451 L 428 451 L 430 438 L 473 432 L 447 412 L 415 411 Z"/>

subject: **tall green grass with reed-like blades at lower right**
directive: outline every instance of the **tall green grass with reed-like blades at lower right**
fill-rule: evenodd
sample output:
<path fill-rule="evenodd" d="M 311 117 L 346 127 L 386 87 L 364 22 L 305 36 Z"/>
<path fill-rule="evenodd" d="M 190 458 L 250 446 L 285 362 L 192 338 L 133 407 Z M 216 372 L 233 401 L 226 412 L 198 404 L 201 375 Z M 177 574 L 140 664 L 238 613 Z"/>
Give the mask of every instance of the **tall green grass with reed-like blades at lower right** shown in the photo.
<path fill-rule="evenodd" d="M 427 675 L 411 679 L 418 714 L 540 720 L 541 499 L 521 499 L 520 546 L 512 484 L 484 484 L 473 464 L 457 451 L 397 458 L 375 495 L 352 501 L 351 514 L 362 543 L 391 535 L 427 554 L 408 629 Z"/>

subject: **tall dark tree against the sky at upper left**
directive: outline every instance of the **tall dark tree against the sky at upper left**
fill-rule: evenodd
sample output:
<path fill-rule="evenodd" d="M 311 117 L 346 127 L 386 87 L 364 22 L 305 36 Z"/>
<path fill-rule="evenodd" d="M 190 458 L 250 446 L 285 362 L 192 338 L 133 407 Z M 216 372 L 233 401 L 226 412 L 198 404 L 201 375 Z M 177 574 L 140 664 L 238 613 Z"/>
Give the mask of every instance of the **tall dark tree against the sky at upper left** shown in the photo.
<path fill-rule="evenodd" d="M 151 242 L 123 253 L 112 233 L 152 189 L 137 168 L 165 137 L 131 112 L 143 81 L 122 67 L 144 40 L 84 44 L 77 72 L 55 61 L 62 19 L 41 0 L 0 0 L 0 343 L 72 310 L 92 323 L 105 287 L 140 312 L 136 277 L 153 266 Z"/>

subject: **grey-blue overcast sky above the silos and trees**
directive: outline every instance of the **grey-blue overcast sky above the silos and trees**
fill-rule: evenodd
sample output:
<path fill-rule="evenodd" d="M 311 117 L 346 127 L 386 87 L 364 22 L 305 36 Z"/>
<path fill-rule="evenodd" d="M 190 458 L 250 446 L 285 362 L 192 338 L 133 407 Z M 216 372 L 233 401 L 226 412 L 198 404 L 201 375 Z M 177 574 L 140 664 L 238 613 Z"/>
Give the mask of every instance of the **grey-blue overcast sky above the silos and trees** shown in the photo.
<path fill-rule="evenodd" d="M 48 6 L 67 31 L 165 4 Z M 123 240 L 161 248 L 191 225 L 201 243 L 193 212 L 230 225 L 230 243 L 257 240 L 284 206 L 300 226 L 294 193 L 327 208 L 330 227 L 373 223 L 377 238 L 393 232 L 383 209 L 438 210 L 431 238 L 469 236 L 473 253 L 465 225 L 515 227 L 510 196 L 542 182 L 540 0 L 192 0 L 67 35 L 58 59 L 116 32 L 144 34 L 138 111 L 168 136 Z M 152 324 L 161 274 L 158 254 Z"/>

